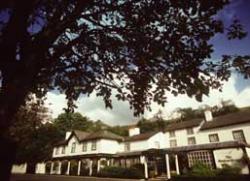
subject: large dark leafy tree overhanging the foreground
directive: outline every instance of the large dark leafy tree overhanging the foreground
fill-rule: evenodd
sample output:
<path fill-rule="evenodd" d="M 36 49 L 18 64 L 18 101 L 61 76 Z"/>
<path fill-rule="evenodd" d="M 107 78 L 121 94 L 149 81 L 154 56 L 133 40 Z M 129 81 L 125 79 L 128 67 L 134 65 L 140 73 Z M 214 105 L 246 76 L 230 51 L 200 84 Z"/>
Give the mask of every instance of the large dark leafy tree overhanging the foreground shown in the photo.
<path fill-rule="evenodd" d="M 213 52 L 209 40 L 224 30 L 215 15 L 228 2 L 1 1 L 1 151 L 11 149 L 4 135 L 30 92 L 43 96 L 56 88 L 72 111 L 80 94 L 93 91 L 112 107 L 116 89 L 136 115 L 152 101 L 164 105 L 166 91 L 201 100 L 210 87 L 220 87 L 206 59 Z M 229 37 L 244 36 L 234 25 Z M 8 159 L 0 163 L 3 173 L 10 170 Z"/>

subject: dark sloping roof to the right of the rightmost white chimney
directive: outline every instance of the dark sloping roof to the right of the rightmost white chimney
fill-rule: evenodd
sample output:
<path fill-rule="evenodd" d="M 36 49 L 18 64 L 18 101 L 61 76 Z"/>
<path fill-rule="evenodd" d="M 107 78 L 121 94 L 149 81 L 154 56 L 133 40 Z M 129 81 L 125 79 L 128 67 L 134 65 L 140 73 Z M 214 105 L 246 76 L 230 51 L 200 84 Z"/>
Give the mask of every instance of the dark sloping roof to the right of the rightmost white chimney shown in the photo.
<path fill-rule="evenodd" d="M 235 124 L 250 123 L 250 111 L 240 111 L 213 118 L 212 121 L 205 122 L 201 130 L 213 129 Z"/>

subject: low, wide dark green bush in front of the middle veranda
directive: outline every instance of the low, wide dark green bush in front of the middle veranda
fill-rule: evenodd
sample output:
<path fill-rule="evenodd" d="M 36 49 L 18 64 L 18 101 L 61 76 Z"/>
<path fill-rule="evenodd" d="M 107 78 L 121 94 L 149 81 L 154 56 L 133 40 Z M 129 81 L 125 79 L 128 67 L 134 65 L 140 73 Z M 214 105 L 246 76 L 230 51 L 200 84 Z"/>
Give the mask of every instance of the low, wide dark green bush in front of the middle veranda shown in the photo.
<path fill-rule="evenodd" d="M 122 168 L 122 167 L 105 167 L 99 173 L 99 177 L 113 177 L 113 178 L 144 178 L 143 173 L 137 168 Z"/>

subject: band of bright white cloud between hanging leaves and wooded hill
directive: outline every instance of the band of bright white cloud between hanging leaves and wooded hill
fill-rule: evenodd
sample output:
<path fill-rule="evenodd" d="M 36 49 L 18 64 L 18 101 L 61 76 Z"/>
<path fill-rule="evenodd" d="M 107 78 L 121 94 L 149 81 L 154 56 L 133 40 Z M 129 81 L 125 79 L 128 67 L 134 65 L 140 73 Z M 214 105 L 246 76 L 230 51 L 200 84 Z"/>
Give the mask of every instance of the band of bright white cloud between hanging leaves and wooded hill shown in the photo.
<path fill-rule="evenodd" d="M 152 112 L 146 111 L 144 116 L 147 118 L 152 117 L 159 109 L 163 111 L 163 115 L 168 117 L 171 111 L 178 107 L 192 107 L 197 108 L 201 105 L 207 104 L 210 106 L 218 104 L 223 100 L 232 100 L 238 107 L 244 107 L 250 105 L 250 87 L 245 87 L 241 92 L 237 91 L 237 81 L 240 81 L 237 76 L 232 76 L 228 82 L 224 83 L 223 91 L 212 90 L 209 97 L 204 97 L 203 102 L 197 102 L 194 98 L 189 98 L 186 95 L 180 95 L 174 97 L 169 94 L 168 103 L 164 107 L 153 103 L 151 108 Z M 54 94 L 49 92 L 47 105 L 50 107 L 53 113 L 53 117 L 56 117 L 66 107 L 65 96 L 62 94 Z M 49 104 L 51 103 L 51 104 Z M 132 110 L 129 108 L 127 102 L 120 102 L 113 98 L 113 109 L 106 109 L 105 105 L 100 97 L 96 97 L 94 94 L 89 97 L 82 96 L 77 101 L 78 109 L 76 111 L 81 112 L 83 115 L 90 119 L 102 120 L 110 125 L 124 125 L 135 123 L 138 118 L 133 116 Z"/>

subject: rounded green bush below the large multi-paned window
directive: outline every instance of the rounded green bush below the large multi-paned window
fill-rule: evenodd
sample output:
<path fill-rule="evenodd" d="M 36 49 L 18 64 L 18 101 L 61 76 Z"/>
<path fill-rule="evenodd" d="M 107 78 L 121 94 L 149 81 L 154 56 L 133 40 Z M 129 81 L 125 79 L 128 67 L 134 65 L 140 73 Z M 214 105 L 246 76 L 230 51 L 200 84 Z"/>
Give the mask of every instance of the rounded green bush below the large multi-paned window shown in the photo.
<path fill-rule="evenodd" d="M 189 175 L 191 176 L 215 176 L 216 173 L 213 169 L 211 169 L 206 164 L 197 162 L 192 166 L 191 171 L 189 172 Z"/>

